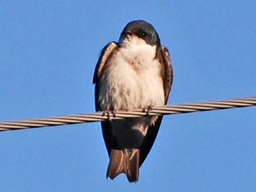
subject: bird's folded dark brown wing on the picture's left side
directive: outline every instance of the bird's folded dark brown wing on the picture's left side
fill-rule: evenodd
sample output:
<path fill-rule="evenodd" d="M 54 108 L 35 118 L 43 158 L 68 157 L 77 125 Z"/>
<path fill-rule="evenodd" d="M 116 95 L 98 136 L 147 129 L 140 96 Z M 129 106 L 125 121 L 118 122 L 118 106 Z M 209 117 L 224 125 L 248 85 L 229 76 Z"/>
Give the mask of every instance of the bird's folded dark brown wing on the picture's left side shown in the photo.
<path fill-rule="evenodd" d="M 99 98 L 99 78 L 102 73 L 103 66 L 105 65 L 106 61 L 109 57 L 111 57 L 111 54 L 117 49 L 119 45 L 116 42 L 109 42 L 101 51 L 99 60 L 97 61 L 94 76 L 93 76 L 93 83 L 95 83 L 95 108 L 96 111 L 101 110 L 98 102 Z M 107 147 L 108 156 L 110 156 L 111 148 L 113 145 L 113 134 L 112 129 L 109 121 L 103 121 L 101 122 L 102 127 L 102 134 L 104 138 L 105 145 Z"/>

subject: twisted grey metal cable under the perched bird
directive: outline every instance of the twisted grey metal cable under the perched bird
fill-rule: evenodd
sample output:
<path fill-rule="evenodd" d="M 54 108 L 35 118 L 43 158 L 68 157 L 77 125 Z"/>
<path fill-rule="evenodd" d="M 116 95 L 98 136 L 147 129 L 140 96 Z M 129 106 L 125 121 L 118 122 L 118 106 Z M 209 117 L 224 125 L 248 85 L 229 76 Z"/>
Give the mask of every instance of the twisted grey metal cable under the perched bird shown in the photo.
<path fill-rule="evenodd" d="M 168 115 L 178 113 L 203 112 L 207 110 L 229 109 L 238 107 L 256 106 L 256 97 L 234 98 L 230 100 L 208 101 L 187 104 L 174 104 L 172 106 L 153 107 L 143 110 L 135 109 L 130 112 L 115 112 L 115 114 L 106 115 L 104 112 L 63 115 L 55 117 L 44 117 L 39 119 L 28 119 L 20 121 L 0 122 L 0 131 L 49 127 L 58 125 L 70 125 L 85 122 L 105 121 L 107 119 L 125 119 L 128 117 L 140 117 L 145 115 Z"/>

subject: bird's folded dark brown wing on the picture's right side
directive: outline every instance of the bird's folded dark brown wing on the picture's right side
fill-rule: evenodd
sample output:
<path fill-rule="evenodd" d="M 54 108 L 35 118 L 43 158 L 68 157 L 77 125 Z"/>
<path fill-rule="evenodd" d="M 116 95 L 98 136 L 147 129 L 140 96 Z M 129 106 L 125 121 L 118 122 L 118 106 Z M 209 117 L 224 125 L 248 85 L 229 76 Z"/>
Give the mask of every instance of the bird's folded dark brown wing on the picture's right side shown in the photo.
<path fill-rule="evenodd" d="M 156 58 L 159 59 L 160 63 L 163 63 L 163 66 L 161 66 L 161 76 L 163 78 L 164 104 L 166 104 L 169 97 L 170 87 L 172 86 L 173 83 L 173 68 L 172 63 L 170 61 L 168 49 L 166 47 L 161 46 L 161 48 L 159 49 L 159 51 L 157 51 L 156 54 Z M 154 144 L 162 119 L 163 116 L 158 116 L 155 125 L 151 125 L 148 128 L 148 132 L 145 135 L 145 138 L 140 148 L 141 156 L 139 166 L 142 165 L 145 158 L 148 156 L 151 147 Z"/>

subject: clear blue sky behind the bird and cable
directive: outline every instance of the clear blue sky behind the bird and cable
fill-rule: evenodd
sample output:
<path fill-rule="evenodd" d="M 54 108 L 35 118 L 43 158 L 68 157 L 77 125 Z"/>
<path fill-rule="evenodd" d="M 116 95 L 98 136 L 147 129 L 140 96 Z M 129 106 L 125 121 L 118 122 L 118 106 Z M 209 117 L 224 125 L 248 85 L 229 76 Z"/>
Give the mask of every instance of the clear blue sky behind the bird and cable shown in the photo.
<path fill-rule="evenodd" d="M 0 121 L 94 112 L 127 22 L 169 48 L 169 104 L 256 96 L 255 1 L 0 1 Z M 0 191 L 256 191 L 256 108 L 165 116 L 140 169 L 106 179 L 100 123 L 0 132 Z"/>

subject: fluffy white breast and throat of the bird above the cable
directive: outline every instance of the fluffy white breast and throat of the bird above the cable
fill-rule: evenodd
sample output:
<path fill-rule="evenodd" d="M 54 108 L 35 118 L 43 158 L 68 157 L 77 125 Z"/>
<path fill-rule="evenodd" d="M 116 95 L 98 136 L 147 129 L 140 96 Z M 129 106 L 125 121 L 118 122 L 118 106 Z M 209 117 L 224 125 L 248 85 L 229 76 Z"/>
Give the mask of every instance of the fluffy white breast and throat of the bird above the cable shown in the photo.
<path fill-rule="evenodd" d="M 108 60 L 100 79 L 101 110 L 130 110 L 164 104 L 160 63 L 155 46 L 130 39 Z"/>

